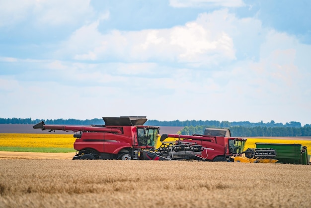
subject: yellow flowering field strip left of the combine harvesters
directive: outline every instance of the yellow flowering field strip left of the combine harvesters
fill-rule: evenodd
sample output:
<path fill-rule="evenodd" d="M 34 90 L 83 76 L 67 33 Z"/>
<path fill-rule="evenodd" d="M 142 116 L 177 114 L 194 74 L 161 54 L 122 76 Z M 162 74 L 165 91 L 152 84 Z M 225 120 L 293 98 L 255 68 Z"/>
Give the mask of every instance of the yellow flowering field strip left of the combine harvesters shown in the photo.
<path fill-rule="evenodd" d="M 0 134 L 0 147 L 74 148 L 75 141 L 72 134 Z"/>

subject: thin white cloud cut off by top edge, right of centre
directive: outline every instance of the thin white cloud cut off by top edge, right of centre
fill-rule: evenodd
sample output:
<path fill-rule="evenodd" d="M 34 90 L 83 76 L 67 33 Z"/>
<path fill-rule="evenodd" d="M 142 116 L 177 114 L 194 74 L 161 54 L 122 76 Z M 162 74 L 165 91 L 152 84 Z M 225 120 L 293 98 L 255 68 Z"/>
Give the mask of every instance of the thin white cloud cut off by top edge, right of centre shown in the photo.
<path fill-rule="evenodd" d="M 173 7 L 240 7 L 244 3 L 242 0 L 169 0 L 169 5 Z"/>

